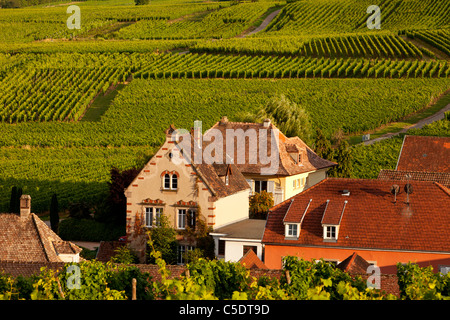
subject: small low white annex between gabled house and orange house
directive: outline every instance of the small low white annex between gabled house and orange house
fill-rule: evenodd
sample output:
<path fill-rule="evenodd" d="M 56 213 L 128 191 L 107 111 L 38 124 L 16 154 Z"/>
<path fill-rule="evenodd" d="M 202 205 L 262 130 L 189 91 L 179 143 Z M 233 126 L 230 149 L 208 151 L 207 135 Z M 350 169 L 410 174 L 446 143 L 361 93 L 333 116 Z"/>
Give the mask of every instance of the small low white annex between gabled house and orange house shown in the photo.
<path fill-rule="evenodd" d="M 210 235 L 214 239 L 215 254 L 225 261 L 239 261 L 248 251 L 264 259 L 261 243 L 266 220 L 245 219 L 215 229 Z"/>

